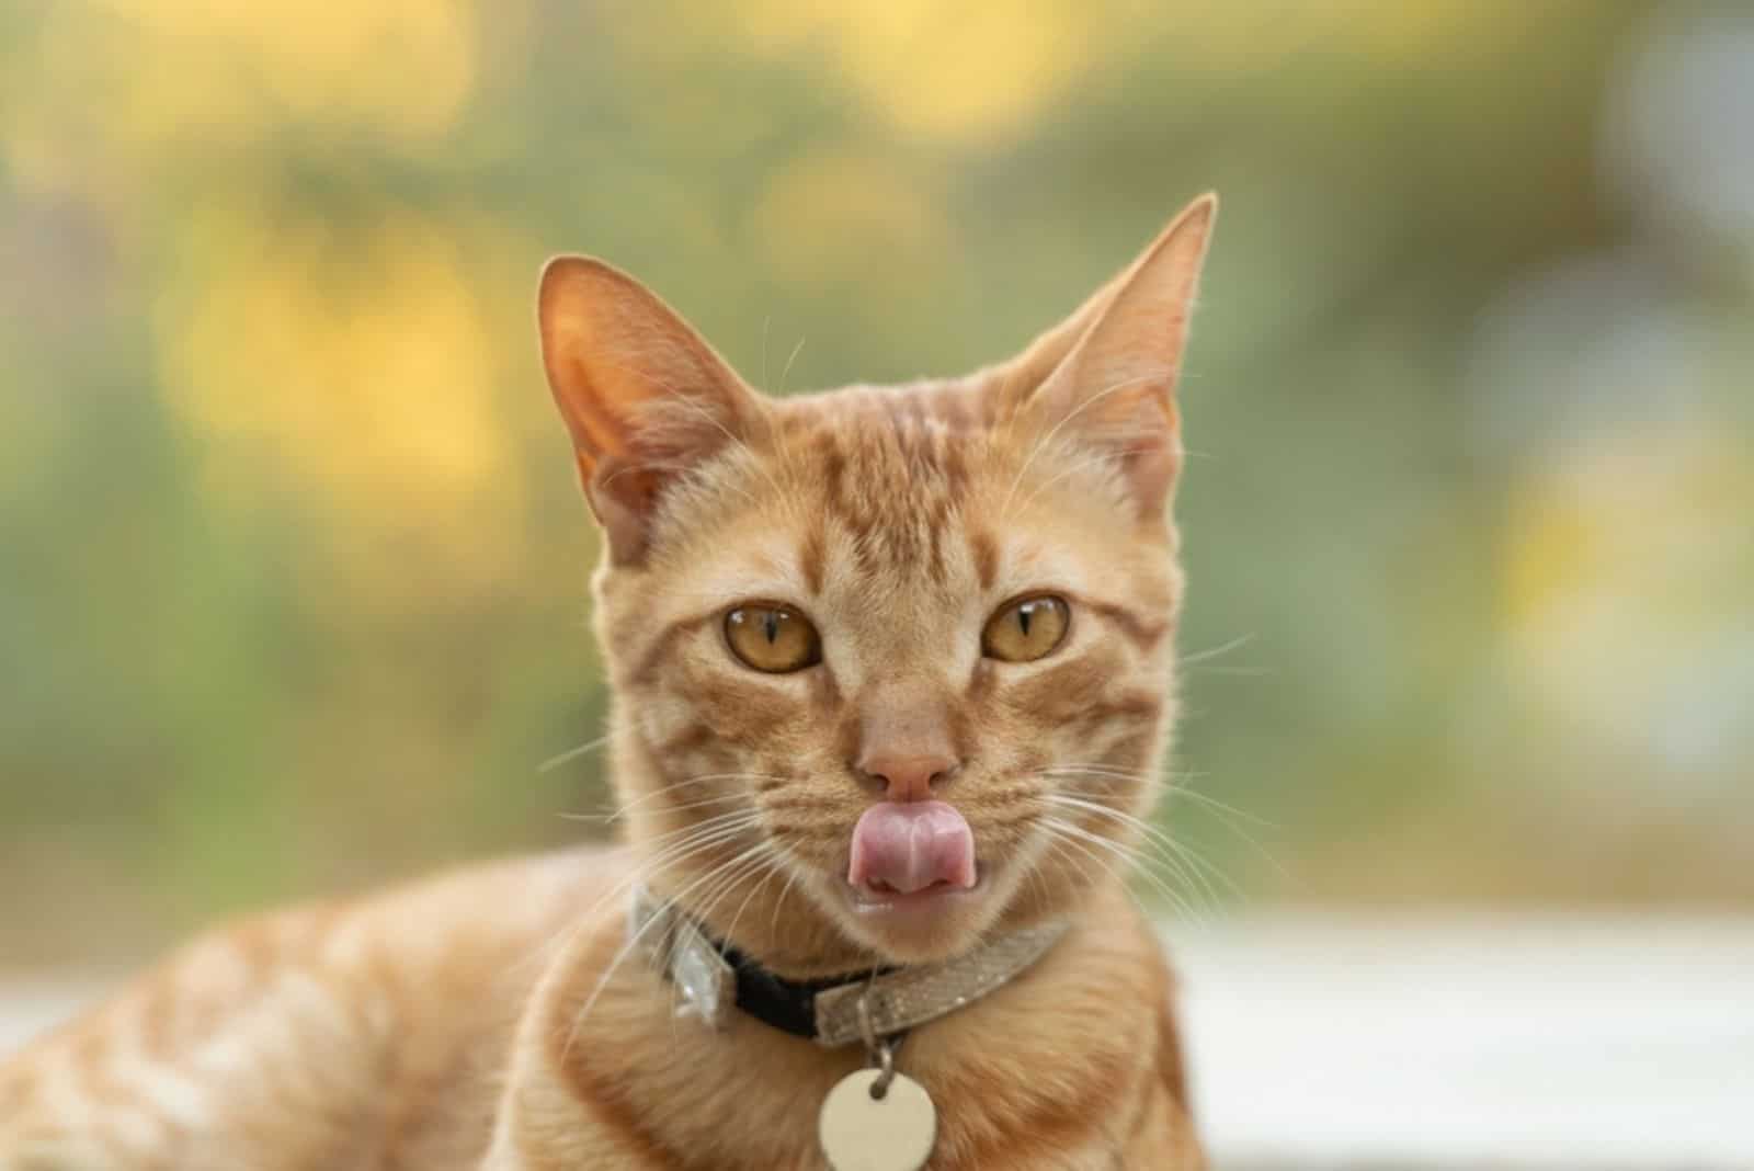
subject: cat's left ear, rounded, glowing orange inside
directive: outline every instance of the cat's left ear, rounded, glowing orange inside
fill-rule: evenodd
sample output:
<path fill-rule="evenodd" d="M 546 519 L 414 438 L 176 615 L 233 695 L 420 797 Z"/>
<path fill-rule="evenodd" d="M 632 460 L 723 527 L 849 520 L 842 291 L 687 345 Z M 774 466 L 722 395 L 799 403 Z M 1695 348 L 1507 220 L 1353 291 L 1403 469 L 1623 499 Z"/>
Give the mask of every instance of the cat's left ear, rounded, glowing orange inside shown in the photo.
<path fill-rule="evenodd" d="M 665 487 L 761 407 L 705 338 L 633 277 L 584 256 L 542 270 L 542 365 L 616 563 L 645 550 Z"/>

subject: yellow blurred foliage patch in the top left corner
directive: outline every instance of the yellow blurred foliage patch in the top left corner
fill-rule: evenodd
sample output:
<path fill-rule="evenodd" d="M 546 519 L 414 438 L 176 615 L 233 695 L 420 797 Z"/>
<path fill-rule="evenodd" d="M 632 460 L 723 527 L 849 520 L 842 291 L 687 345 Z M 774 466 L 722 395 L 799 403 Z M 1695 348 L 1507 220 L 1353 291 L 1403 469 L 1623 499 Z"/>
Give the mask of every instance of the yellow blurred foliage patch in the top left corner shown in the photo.
<path fill-rule="evenodd" d="M 461 0 L 98 0 L 60 4 L 28 67 L 0 81 L 0 149 L 32 186 L 100 195 L 119 163 L 253 142 L 277 124 L 430 142 L 474 93 Z"/>

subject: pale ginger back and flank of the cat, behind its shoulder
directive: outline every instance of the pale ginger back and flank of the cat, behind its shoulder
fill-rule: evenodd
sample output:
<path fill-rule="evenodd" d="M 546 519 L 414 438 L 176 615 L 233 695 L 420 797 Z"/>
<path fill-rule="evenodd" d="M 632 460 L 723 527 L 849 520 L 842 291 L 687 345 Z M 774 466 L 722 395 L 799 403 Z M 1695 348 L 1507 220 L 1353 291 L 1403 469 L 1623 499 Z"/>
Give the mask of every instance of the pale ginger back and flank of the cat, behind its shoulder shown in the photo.
<path fill-rule="evenodd" d="M 196 940 L 0 1066 L 0 1171 L 475 1167 L 544 962 L 624 871 L 479 866 Z"/>

